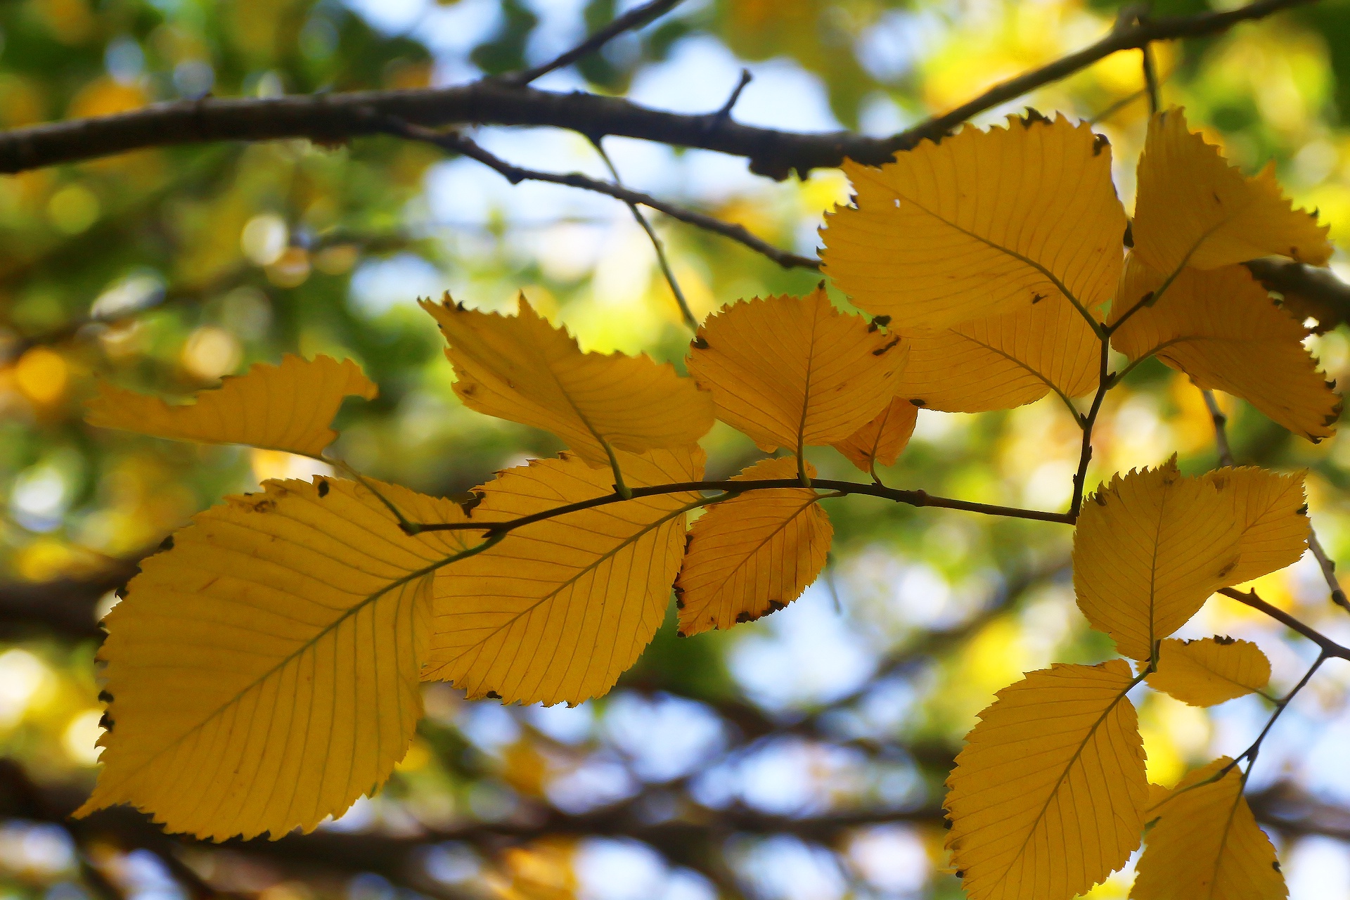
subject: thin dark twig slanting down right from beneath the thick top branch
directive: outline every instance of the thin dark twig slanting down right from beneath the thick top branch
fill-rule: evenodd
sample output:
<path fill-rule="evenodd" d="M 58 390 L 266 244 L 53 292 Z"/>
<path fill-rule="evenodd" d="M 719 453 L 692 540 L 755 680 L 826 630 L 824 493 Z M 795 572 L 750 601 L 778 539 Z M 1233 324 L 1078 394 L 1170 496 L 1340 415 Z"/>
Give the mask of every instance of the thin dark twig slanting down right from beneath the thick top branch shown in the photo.
<path fill-rule="evenodd" d="M 657 212 L 666 213 L 671 219 L 678 219 L 705 231 L 711 231 L 722 235 L 724 237 L 730 237 L 732 240 L 749 247 L 755 252 L 768 256 L 784 269 L 819 269 L 818 260 L 798 256 L 796 254 L 790 254 L 786 250 L 779 250 L 774 244 L 756 237 L 741 225 L 722 221 L 721 219 L 714 219 L 711 216 L 694 212 L 693 209 L 666 202 L 664 200 L 657 200 L 651 194 L 630 190 L 622 185 L 598 181 L 575 171 L 560 174 L 552 171 L 537 171 L 535 169 L 522 169 L 491 154 L 470 138 L 451 131 L 433 131 L 431 128 L 423 128 L 421 125 L 414 125 L 409 121 L 398 119 L 386 120 L 383 127 L 390 134 L 396 134 L 410 140 L 423 140 L 435 144 L 441 150 L 448 150 L 451 152 L 468 157 L 470 159 L 475 159 L 495 170 L 513 185 L 520 184 L 521 181 L 543 181 L 554 185 L 567 185 L 568 188 L 580 188 L 582 190 L 593 190 L 599 194 L 614 197 L 616 200 L 622 200 L 628 204 L 651 206 Z"/>

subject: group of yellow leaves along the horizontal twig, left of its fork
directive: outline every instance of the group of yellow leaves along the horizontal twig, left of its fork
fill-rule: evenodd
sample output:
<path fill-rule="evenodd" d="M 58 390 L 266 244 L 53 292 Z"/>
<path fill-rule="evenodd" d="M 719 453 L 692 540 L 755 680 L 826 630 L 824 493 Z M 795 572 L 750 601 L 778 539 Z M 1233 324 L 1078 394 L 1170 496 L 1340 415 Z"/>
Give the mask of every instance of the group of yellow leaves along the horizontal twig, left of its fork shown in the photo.
<path fill-rule="evenodd" d="M 105 621 L 113 727 L 82 812 L 132 803 L 178 831 L 279 837 L 389 776 L 420 680 L 506 702 L 598 696 L 651 641 L 676 579 L 694 634 L 782 609 L 825 563 L 832 530 L 805 461 L 732 482 L 782 488 L 697 490 L 714 412 L 765 449 L 837 443 L 863 470 L 894 461 L 914 428 L 894 391 L 907 348 L 824 289 L 724 308 L 694 341 L 694 378 L 582 352 L 524 300 L 517 316 L 424 306 L 466 405 L 572 453 L 500 472 L 468 510 L 317 478 L 197 515 Z M 374 395 L 354 363 L 286 356 L 180 406 L 104 385 L 89 420 L 320 457 L 354 394 Z M 687 534 L 686 514 L 713 499 Z"/>

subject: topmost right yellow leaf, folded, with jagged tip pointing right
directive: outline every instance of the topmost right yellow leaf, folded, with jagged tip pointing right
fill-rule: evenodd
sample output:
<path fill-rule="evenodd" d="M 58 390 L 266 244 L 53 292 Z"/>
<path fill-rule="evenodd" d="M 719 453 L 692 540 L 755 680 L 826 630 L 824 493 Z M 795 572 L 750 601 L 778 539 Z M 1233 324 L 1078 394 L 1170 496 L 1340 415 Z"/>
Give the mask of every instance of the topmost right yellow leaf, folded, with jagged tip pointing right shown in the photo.
<path fill-rule="evenodd" d="M 1153 116 L 1139 157 L 1134 252 L 1170 275 L 1183 266 L 1216 269 L 1258 256 L 1324 264 L 1327 225 L 1295 209 L 1268 166 L 1241 171 L 1187 128 L 1181 109 Z"/>

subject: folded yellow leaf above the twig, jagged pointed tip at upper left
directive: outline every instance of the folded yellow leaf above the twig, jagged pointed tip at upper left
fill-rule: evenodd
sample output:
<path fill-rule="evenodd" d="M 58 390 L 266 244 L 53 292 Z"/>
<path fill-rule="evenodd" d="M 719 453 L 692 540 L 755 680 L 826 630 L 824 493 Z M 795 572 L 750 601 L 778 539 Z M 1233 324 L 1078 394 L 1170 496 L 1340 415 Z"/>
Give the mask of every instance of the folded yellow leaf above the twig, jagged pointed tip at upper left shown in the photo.
<path fill-rule="evenodd" d="M 713 399 L 670 363 L 648 356 L 583 354 L 521 294 L 516 316 L 450 301 L 420 301 L 446 336 L 446 356 L 470 409 L 558 434 L 591 466 L 608 466 L 608 443 L 641 453 L 690 447 L 713 426 Z"/>

